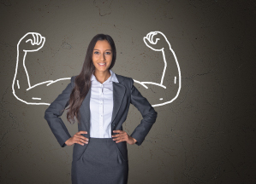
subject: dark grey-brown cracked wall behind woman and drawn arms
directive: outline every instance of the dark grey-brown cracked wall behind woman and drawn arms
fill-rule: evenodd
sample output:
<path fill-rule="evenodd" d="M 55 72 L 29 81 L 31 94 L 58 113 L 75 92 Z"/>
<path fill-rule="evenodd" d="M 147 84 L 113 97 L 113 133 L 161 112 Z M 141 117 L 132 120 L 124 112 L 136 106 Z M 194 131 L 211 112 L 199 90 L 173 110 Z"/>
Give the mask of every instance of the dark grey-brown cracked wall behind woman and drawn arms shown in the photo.
<path fill-rule="evenodd" d="M 142 145 L 128 145 L 128 183 L 255 183 L 255 7 L 253 0 L 1 0 L 0 182 L 71 183 L 73 147 L 57 143 L 44 119 L 47 106 L 12 95 L 23 35 L 46 37 L 43 49 L 27 55 L 32 84 L 77 75 L 97 33 L 116 42 L 114 72 L 159 82 L 163 57 L 142 37 L 160 31 L 179 60 L 182 90 L 155 107 L 157 122 Z M 130 106 L 124 130 L 132 133 L 140 119 Z M 64 114 L 63 121 L 74 135 L 77 125 Z"/>

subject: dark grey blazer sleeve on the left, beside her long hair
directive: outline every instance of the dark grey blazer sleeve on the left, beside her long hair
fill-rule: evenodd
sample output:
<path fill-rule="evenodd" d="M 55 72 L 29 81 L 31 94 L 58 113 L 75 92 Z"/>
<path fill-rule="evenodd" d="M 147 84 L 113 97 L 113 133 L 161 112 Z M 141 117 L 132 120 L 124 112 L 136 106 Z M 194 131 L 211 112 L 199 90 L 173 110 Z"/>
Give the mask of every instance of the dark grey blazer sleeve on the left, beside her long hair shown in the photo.
<path fill-rule="evenodd" d="M 63 110 L 68 106 L 68 100 L 73 89 L 73 83 L 74 77 L 71 78 L 71 82 L 68 83 L 68 86 L 63 90 L 62 94 L 58 95 L 57 99 L 45 110 L 45 120 L 49 124 L 52 133 L 57 138 L 61 147 L 66 147 L 67 145 L 65 144 L 65 141 L 71 137 L 67 127 L 60 117 L 63 115 Z"/>

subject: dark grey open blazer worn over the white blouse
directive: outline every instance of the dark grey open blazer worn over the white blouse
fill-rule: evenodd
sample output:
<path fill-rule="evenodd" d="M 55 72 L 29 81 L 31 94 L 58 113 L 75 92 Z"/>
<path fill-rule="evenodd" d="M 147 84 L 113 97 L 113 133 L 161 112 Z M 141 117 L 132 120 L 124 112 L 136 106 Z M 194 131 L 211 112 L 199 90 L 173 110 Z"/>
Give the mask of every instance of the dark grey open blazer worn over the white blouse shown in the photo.
<path fill-rule="evenodd" d="M 45 120 L 48 122 L 52 133 L 57 138 L 61 147 L 65 147 L 65 141 L 67 141 L 71 135 L 68 133 L 68 129 L 63 123 L 62 116 L 63 109 L 68 106 L 69 96 L 74 89 L 74 78 L 71 78 L 71 82 L 68 83 L 66 89 L 62 94 L 57 96 L 57 99 L 51 103 L 51 105 L 45 110 Z M 111 134 L 115 129 L 122 130 L 122 124 L 125 122 L 130 103 L 133 104 L 141 113 L 142 120 L 140 124 L 134 129 L 134 132 L 130 135 L 137 140 L 138 146 L 145 140 L 146 135 L 152 128 L 152 124 L 156 122 L 158 112 L 154 110 L 151 104 L 140 94 L 140 91 L 134 87 L 134 80 L 122 75 L 116 74 L 116 78 L 119 83 L 113 82 L 113 113 L 111 118 Z M 89 89 L 86 98 L 80 106 L 80 123 L 78 124 L 78 130 L 87 131 L 87 134 L 82 134 L 87 138 L 90 138 L 90 96 L 91 89 Z M 89 143 L 90 144 L 90 141 Z M 88 144 L 84 146 L 75 143 L 73 147 L 73 160 L 78 160 L 83 152 L 85 152 Z M 116 143 L 122 153 L 122 158 L 128 160 L 127 142 L 121 141 Z"/>

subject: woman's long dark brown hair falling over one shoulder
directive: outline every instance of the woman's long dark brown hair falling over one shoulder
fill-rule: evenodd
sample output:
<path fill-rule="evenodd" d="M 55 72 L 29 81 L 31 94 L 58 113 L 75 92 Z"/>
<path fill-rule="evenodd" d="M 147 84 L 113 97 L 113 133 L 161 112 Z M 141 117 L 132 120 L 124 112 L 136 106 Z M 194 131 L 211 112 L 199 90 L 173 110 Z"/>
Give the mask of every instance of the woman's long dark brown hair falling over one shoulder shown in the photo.
<path fill-rule="evenodd" d="M 70 124 L 74 124 L 74 117 L 78 120 L 78 123 L 80 123 L 80 106 L 91 88 L 91 76 L 95 70 L 95 66 L 92 63 L 92 52 L 98 40 L 107 40 L 108 43 L 110 43 L 112 49 L 112 62 L 109 69 L 111 69 L 116 62 L 116 45 L 112 37 L 106 34 L 98 34 L 95 37 L 92 37 L 86 51 L 86 59 L 80 74 L 77 75 L 74 80 L 74 89 L 72 90 L 68 101 L 67 119 Z"/>

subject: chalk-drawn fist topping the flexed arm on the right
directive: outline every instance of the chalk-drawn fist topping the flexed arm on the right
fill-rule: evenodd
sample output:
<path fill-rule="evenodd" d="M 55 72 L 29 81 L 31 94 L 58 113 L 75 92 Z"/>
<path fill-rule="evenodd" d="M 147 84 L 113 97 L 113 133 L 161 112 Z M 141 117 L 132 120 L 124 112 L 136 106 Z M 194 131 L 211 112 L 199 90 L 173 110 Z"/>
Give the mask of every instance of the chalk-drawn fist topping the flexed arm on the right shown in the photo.
<path fill-rule="evenodd" d="M 170 49 L 170 43 L 162 32 L 149 32 L 143 41 L 147 47 L 155 51 Z"/>

